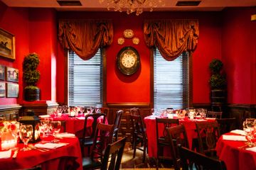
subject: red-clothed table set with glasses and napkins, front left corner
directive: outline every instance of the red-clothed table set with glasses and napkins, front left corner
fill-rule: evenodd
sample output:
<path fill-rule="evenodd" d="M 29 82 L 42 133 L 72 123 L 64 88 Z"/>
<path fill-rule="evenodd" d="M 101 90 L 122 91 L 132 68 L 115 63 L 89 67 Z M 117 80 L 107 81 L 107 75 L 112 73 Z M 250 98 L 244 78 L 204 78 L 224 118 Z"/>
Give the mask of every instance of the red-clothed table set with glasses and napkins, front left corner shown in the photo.
<path fill-rule="evenodd" d="M 47 125 L 45 121 L 40 120 L 36 126 L 0 122 L 1 168 L 28 169 L 39 165 L 42 169 L 65 169 L 65 164 L 71 164 L 74 169 L 81 169 L 78 138 L 67 132 L 59 133 L 59 121 L 49 121 Z M 35 134 L 40 139 L 33 141 Z"/>

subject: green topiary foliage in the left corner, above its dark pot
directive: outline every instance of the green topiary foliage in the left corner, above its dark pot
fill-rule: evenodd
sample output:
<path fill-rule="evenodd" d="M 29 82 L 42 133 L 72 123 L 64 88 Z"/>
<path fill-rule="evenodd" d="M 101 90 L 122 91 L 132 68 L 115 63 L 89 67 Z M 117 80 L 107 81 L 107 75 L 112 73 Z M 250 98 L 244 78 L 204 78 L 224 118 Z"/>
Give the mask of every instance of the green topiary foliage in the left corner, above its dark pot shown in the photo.
<path fill-rule="evenodd" d="M 27 87 L 25 89 L 38 89 L 36 83 L 40 78 L 40 72 L 36 70 L 40 60 L 36 53 L 28 54 L 23 60 L 23 79 Z M 32 87 L 33 86 L 33 87 Z"/>

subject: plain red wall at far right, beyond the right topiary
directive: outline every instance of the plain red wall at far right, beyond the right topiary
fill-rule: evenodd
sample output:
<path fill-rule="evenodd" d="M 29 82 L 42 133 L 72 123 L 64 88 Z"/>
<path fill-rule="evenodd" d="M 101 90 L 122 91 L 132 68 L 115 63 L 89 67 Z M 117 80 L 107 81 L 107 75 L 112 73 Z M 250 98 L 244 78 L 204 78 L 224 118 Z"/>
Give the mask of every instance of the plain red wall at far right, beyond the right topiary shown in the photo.
<path fill-rule="evenodd" d="M 255 10 L 233 8 L 223 13 L 222 58 L 228 78 L 228 103 L 256 103 Z"/>

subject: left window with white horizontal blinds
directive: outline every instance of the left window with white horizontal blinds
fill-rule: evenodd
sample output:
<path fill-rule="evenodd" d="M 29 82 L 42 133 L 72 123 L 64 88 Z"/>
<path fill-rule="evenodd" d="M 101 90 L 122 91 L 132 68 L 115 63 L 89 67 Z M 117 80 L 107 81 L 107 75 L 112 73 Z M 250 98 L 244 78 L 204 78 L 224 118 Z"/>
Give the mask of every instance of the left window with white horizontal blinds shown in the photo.
<path fill-rule="evenodd" d="M 102 105 L 102 50 L 90 60 L 68 53 L 68 105 Z"/>

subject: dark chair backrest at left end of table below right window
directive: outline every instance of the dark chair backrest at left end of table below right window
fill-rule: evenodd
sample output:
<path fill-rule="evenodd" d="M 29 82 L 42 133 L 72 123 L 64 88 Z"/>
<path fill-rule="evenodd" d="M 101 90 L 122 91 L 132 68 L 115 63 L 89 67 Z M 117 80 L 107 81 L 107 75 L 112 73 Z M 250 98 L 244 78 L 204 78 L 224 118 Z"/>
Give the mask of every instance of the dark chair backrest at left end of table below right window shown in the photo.
<path fill-rule="evenodd" d="M 146 137 L 145 125 L 140 115 L 131 115 L 132 128 L 135 135 Z"/>

